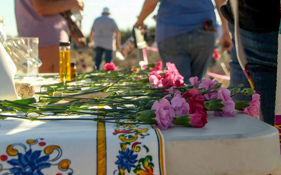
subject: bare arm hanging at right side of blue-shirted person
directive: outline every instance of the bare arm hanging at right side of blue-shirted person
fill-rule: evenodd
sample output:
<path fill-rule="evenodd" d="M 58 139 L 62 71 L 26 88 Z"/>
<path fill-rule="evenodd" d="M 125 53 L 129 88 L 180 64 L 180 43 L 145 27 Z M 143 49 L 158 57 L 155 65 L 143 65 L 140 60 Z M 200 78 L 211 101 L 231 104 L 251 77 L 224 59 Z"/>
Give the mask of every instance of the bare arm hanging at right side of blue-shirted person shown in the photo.
<path fill-rule="evenodd" d="M 222 20 L 222 37 L 221 37 L 221 44 L 222 44 L 222 51 L 231 50 L 232 42 L 231 37 L 229 34 L 229 29 L 227 25 L 227 20 L 223 17 L 222 13 L 220 12 L 220 7 L 226 0 L 215 0 L 217 11 L 220 15 L 220 19 Z"/>

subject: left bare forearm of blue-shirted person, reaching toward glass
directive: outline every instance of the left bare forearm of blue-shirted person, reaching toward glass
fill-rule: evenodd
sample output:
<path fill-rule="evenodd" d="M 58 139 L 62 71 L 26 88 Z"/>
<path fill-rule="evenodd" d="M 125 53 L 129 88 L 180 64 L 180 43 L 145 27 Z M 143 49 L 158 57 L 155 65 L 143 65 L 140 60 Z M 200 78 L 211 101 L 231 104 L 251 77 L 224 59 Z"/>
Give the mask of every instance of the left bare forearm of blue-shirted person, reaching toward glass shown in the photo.
<path fill-rule="evenodd" d="M 145 0 L 143 4 L 143 8 L 140 12 L 140 16 L 138 17 L 138 21 L 134 25 L 135 27 L 143 26 L 143 21 L 145 20 L 150 13 L 156 8 L 158 0 Z"/>

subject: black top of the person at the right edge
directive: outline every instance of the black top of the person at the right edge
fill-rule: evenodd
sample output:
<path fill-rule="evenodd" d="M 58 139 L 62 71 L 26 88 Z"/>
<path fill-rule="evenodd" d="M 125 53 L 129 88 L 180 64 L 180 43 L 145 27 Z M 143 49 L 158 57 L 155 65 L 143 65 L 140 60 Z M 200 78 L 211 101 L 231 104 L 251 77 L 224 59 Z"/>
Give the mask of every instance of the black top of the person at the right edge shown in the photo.
<path fill-rule="evenodd" d="M 229 1 L 220 10 L 227 21 L 234 24 Z M 239 26 L 246 31 L 279 31 L 280 16 L 280 0 L 239 0 Z"/>

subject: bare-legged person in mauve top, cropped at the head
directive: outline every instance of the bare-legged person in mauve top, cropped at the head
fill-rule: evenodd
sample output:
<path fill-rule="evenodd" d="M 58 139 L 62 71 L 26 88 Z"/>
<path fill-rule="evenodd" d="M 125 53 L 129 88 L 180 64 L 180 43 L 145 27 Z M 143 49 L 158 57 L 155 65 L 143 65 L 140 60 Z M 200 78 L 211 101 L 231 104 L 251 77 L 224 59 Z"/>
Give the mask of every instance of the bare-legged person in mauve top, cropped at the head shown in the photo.
<path fill-rule="evenodd" d="M 19 37 L 39 38 L 40 73 L 59 72 L 59 42 L 68 42 L 70 31 L 59 13 L 83 9 L 78 0 L 15 0 Z"/>

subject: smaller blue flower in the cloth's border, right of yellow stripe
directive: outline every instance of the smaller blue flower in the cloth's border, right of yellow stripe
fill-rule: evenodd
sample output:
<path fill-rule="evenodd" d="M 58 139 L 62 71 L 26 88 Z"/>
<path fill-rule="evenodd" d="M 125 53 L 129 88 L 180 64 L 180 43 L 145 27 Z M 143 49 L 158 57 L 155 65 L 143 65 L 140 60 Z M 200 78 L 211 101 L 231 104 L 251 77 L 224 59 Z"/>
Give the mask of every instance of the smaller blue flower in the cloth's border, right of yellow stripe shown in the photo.
<path fill-rule="evenodd" d="M 129 148 L 127 148 L 124 152 L 122 150 L 119 150 L 120 155 L 116 156 L 118 160 L 115 162 L 115 164 L 118 164 L 118 169 L 127 169 L 128 172 L 130 172 L 131 167 L 136 167 L 134 164 L 138 161 L 136 160 L 138 155 L 133 153 L 134 151 L 129 150 Z"/>

